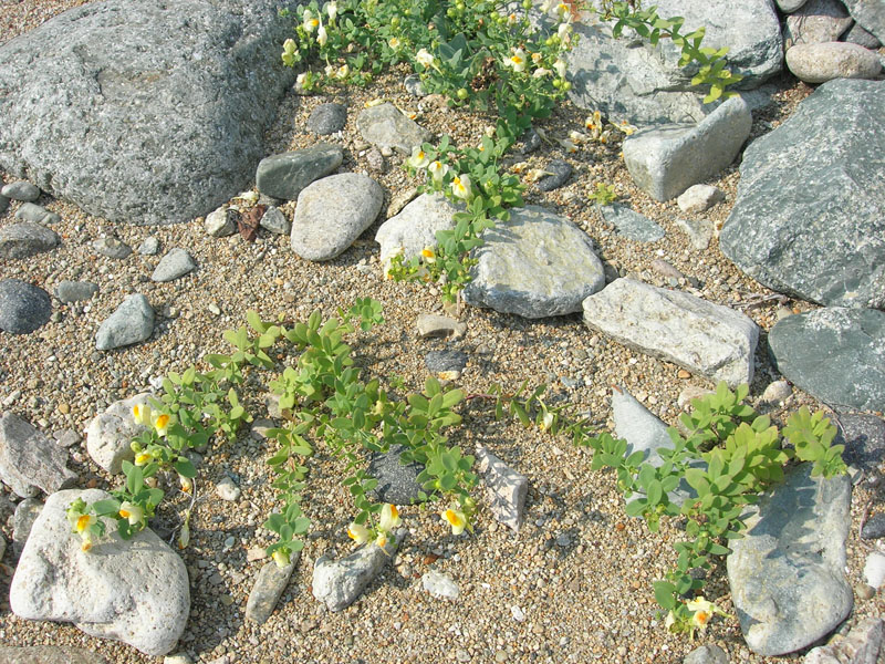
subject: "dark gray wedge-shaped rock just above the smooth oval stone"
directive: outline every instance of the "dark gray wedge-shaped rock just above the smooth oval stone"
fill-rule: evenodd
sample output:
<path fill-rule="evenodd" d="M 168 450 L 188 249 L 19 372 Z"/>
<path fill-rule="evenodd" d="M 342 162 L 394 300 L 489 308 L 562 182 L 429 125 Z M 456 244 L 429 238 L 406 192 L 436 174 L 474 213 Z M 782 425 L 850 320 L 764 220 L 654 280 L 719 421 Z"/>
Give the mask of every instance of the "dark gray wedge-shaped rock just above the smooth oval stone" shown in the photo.
<path fill-rule="evenodd" d="M 267 196 L 295 200 L 311 183 L 341 166 L 344 153 L 337 145 L 313 147 L 264 157 L 256 172 L 258 190 Z"/>

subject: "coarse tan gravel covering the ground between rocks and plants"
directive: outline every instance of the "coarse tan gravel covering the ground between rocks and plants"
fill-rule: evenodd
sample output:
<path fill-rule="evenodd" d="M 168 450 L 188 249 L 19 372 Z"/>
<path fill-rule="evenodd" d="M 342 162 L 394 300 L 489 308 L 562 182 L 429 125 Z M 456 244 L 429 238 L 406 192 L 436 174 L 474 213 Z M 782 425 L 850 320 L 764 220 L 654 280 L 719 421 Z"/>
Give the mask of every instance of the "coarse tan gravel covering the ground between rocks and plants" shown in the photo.
<path fill-rule="evenodd" d="M 75 4 L 80 2 L 4 7 L 0 33 L 14 35 Z M 436 134 L 451 134 L 456 143 L 478 141 L 485 127 L 492 124 L 488 117 L 454 114 L 433 96 L 410 96 L 402 85 L 404 75 L 404 71 L 397 71 L 382 76 L 365 90 L 333 90 L 312 97 L 290 95 L 267 136 L 268 154 L 314 144 L 315 137 L 298 127 L 304 127 L 313 108 L 327 102 L 345 104 L 352 111 L 343 132 L 329 137 L 345 151 L 339 173 L 368 170 L 367 151 L 356 132 L 355 117 L 356 110 L 375 97 L 383 96 L 417 113 L 418 123 Z M 773 128 L 810 92 L 803 84 L 781 85 L 778 104 L 756 114 L 753 135 Z M 541 126 L 548 135 L 564 137 L 569 129 L 582 128 L 585 115 L 566 104 Z M 716 242 L 707 250 L 694 249 L 675 224 L 678 216 L 685 216 L 676 201 L 657 203 L 634 187 L 618 153 L 617 143 L 591 145 L 576 154 L 564 154 L 545 143 L 528 157 L 533 168 L 554 158 L 573 167 L 564 187 L 549 194 L 530 189 L 527 203 L 544 205 L 586 230 L 598 247 L 610 280 L 616 273 L 632 273 L 665 286 L 660 281 L 664 278 L 652 268 L 655 260 L 663 259 L 684 273 L 687 283 L 697 284 L 696 294 L 740 308 L 766 331 L 784 303 L 795 311 L 812 308 L 777 299 L 745 308 L 771 291 L 741 274 L 720 255 Z M 522 159 L 527 157 L 513 157 L 513 162 Z M 610 427 L 610 385 L 624 385 L 669 424 L 677 422 L 677 396 L 683 390 L 709 386 L 700 378 L 683 377 L 673 364 L 590 332 L 579 314 L 527 321 L 467 308 L 459 315 L 468 325 L 462 339 L 419 340 L 414 333 L 416 318 L 442 313 L 439 299 L 433 289 L 383 280 L 378 249 L 371 240 L 387 217 L 391 198 L 412 186 L 399 168 L 402 160 L 392 156 L 388 172 L 373 175 L 385 190 L 375 225 L 342 256 L 323 263 L 295 257 L 285 236 L 259 231 L 253 243 L 244 242 L 239 235 L 217 239 L 205 235 L 202 219 L 156 228 L 112 226 L 65 203 L 46 201 L 46 208 L 62 217 L 53 229 L 64 238 L 63 243 L 34 259 L 4 261 L 3 277 L 34 283 L 48 292 L 54 292 L 63 280 L 91 281 L 100 290 L 86 303 L 54 301 L 60 315 L 32 334 L 0 334 L 0 403 L 48 435 L 60 429 L 82 432 L 98 411 L 142 391 L 152 378 L 181 371 L 206 353 L 227 352 L 221 333 L 243 324 L 247 309 L 257 309 L 264 319 L 283 314 L 304 320 L 315 308 L 330 315 L 357 297 L 379 300 L 386 319 L 385 325 L 356 344 L 357 362 L 367 375 L 386 381 L 396 376 L 408 390 L 423 385 L 427 375 L 424 357 L 429 351 L 462 351 L 470 360 L 459 384 L 468 393 L 487 392 L 493 383 L 514 390 L 524 380 L 530 388 L 546 382 L 552 403 L 568 403 L 577 413 L 589 412 L 600 427 Z M 1 175 L 3 183 L 12 181 L 9 174 Z M 614 184 L 622 201 L 659 224 L 666 237 L 652 243 L 618 237 L 587 204 L 586 196 L 597 181 Z M 737 181 L 737 166 L 731 166 L 707 183 L 726 194 L 726 201 L 706 214 L 717 228 L 730 210 Z M 11 203 L 0 225 L 12 222 L 19 205 Z M 281 209 L 291 219 L 294 203 L 283 204 Z M 163 247 L 183 247 L 200 266 L 198 278 L 155 283 L 149 280 L 155 257 L 133 253 L 122 261 L 95 257 L 92 242 L 110 235 L 131 247 L 139 247 L 148 237 Z M 122 351 L 94 351 L 98 324 L 129 292 L 144 293 L 157 311 L 154 334 Z M 757 366 L 753 397 L 779 377 L 764 344 L 757 352 Z M 257 383 L 266 385 L 268 378 L 267 374 L 259 375 Z M 262 397 L 263 388 L 257 384 L 246 403 L 257 417 L 267 416 Z M 783 406 L 764 407 L 775 408 L 770 412 L 782 422 L 785 413 L 803 404 L 820 407 L 799 390 L 784 400 Z M 229 662 L 277 663 L 290 661 L 294 653 L 316 663 L 680 662 L 697 644 L 664 631 L 663 621 L 656 618 L 650 585 L 675 560 L 670 542 L 681 538 L 676 525 L 664 522 L 660 535 L 649 533 L 641 521 L 624 515 L 613 475 L 590 470 L 587 450 L 574 448 L 565 439 L 551 440 L 534 428 L 494 422 L 492 411 L 482 400 L 462 406 L 465 426 L 451 433 L 451 440 L 471 454 L 483 445 L 529 478 L 525 525 L 519 533 L 494 522 L 481 492 L 477 494 L 480 510 L 472 536 L 451 536 L 436 515 L 442 506 L 424 511 L 403 507 L 404 526 L 409 529 L 403 549 L 355 604 L 341 613 L 329 613 L 310 592 L 313 563 L 323 553 L 342 556 L 351 550 L 345 527 L 354 511 L 347 490 L 340 484 L 344 464 L 319 446 L 310 460 L 304 491 L 303 508 L 312 519 L 306 547 L 277 611 L 262 625 L 246 622 L 243 616 L 248 593 L 263 563 L 250 551 L 272 541 L 261 523 L 278 507 L 263 463 L 273 450 L 258 430 L 242 432 L 233 444 L 211 446 L 199 465 L 200 499 L 190 519 L 191 544 L 183 552 L 191 579 L 192 608 L 178 651 L 195 662 L 227 656 Z M 107 489 L 116 485 L 117 478 L 90 461 L 85 442 L 70 450 L 70 467 L 80 475 L 79 486 Z M 236 478 L 241 490 L 236 501 L 216 495 L 216 487 L 226 477 Z M 863 508 L 875 496 L 876 489 L 867 483 L 855 488 L 848 540 L 852 585 L 862 584 L 863 564 L 873 546 L 856 533 Z M 166 501 L 154 520 L 155 530 L 165 532 L 167 540 L 175 537 L 188 505 L 179 497 Z M 11 539 L 8 526 L 0 523 L 0 532 Z M 13 564 L 11 547 L 2 562 Z M 420 578 L 430 570 L 451 577 L 460 589 L 458 600 L 440 601 L 423 590 Z M 155 662 L 131 647 L 86 637 L 69 624 L 19 619 L 9 611 L 9 582 L 0 568 L 0 641 L 6 645 L 87 646 L 108 662 Z M 706 594 L 733 613 L 721 570 L 712 573 Z M 881 595 L 857 598 L 852 621 L 881 615 L 883 609 Z M 795 654 L 778 658 L 752 654 L 737 620 L 715 620 L 701 639 L 722 647 L 731 662 L 801 661 Z"/>

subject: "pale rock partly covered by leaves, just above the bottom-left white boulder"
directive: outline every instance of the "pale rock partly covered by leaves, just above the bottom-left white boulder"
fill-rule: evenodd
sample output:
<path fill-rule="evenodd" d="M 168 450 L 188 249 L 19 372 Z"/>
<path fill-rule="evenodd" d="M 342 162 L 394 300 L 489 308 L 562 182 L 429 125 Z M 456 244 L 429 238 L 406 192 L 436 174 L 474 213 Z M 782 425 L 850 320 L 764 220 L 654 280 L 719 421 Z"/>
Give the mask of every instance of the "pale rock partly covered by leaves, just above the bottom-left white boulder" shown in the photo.
<path fill-rule="evenodd" d="M 114 402 L 90 422 L 86 428 L 86 452 L 107 473 L 118 474 L 123 461 L 135 458 L 131 443 L 147 430 L 147 427 L 136 424 L 133 407 L 146 405 L 150 396 L 153 395 L 149 392 L 143 392 Z"/>

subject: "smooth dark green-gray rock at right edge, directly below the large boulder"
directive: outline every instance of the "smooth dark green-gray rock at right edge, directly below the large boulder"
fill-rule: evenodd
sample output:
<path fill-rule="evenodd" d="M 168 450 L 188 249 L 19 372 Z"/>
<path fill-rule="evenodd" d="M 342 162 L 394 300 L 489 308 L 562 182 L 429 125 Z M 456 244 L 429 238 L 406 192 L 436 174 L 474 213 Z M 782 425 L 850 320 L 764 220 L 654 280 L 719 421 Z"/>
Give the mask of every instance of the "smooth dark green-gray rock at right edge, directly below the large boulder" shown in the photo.
<path fill-rule="evenodd" d="M 885 312 L 830 308 L 789 315 L 768 342 L 781 375 L 822 402 L 885 409 Z"/>

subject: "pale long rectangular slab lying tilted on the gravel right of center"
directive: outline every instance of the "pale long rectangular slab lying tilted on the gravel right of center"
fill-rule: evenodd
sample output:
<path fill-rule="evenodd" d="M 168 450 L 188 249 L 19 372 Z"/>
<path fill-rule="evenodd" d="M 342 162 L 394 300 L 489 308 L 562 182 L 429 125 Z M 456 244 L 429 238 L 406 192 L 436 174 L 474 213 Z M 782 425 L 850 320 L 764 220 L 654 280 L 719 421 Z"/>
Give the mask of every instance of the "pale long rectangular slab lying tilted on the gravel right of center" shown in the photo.
<path fill-rule="evenodd" d="M 759 326 L 689 293 L 616 279 L 584 300 L 584 322 L 615 341 L 711 381 L 750 383 Z"/>

